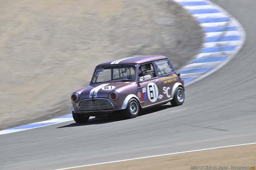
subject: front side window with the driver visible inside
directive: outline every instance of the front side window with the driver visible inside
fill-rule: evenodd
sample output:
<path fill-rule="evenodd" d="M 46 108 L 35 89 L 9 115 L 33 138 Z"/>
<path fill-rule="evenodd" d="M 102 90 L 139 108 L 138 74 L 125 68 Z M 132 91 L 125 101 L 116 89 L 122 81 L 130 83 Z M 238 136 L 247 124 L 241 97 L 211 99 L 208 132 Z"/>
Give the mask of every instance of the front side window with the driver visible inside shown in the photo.
<path fill-rule="evenodd" d="M 156 77 L 156 73 L 152 63 L 141 64 L 139 66 L 138 79 L 146 80 L 151 79 L 153 77 Z"/>

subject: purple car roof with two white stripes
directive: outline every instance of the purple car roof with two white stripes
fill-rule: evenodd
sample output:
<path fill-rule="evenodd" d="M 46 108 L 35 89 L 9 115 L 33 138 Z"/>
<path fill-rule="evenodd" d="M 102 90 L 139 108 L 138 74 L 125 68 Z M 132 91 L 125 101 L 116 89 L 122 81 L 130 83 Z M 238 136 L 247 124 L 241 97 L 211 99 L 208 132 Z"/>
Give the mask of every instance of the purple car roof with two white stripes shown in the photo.
<path fill-rule="evenodd" d="M 167 59 L 165 56 L 135 56 L 135 57 L 128 57 L 119 60 L 109 61 L 105 63 L 101 63 L 98 66 L 106 66 L 112 64 L 140 64 L 144 62 L 154 61 L 154 60 L 161 60 Z"/>

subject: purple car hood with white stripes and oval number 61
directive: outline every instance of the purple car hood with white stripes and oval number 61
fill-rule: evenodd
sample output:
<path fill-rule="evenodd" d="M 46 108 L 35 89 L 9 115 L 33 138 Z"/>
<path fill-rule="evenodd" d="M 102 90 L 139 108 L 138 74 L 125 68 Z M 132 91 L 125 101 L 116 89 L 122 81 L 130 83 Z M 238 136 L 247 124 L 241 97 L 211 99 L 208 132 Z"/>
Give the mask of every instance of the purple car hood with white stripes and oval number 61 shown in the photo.
<path fill-rule="evenodd" d="M 118 83 L 103 83 L 103 84 L 95 84 L 90 85 L 89 87 L 80 89 L 76 91 L 75 93 L 80 95 L 80 99 L 87 99 L 87 98 L 108 98 L 109 92 L 119 91 L 120 89 L 127 88 L 127 86 L 132 85 L 133 82 L 124 83 L 124 82 L 118 82 Z"/>

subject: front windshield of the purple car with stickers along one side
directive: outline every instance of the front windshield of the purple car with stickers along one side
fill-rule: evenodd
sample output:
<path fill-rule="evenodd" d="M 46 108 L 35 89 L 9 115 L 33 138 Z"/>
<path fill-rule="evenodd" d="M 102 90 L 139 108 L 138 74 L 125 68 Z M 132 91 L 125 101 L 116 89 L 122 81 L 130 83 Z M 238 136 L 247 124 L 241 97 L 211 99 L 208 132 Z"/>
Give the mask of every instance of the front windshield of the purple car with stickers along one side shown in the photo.
<path fill-rule="evenodd" d="M 133 81 L 135 79 L 134 65 L 97 67 L 91 83 Z"/>

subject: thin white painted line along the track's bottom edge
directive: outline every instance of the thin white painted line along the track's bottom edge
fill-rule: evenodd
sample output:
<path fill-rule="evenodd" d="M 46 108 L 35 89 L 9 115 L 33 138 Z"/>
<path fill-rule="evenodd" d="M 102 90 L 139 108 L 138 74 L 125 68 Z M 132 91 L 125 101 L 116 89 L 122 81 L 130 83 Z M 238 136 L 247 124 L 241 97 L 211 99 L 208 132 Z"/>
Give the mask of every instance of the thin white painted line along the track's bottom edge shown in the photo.
<path fill-rule="evenodd" d="M 222 146 L 222 147 L 216 147 L 216 148 L 207 148 L 207 149 L 198 149 L 198 150 L 192 150 L 192 151 L 167 153 L 167 154 L 162 154 L 162 155 L 145 156 L 145 157 L 141 157 L 141 158 L 132 158 L 132 159 L 125 159 L 125 160 L 111 161 L 111 162 L 103 162 L 103 163 L 97 163 L 97 164 L 73 166 L 73 167 L 69 167 L 69 168 L 61 168 L 61 169 L 54 169 L 54 170 L 64 170 L 64 169 L 71 169 L 71 168 L 80 168 L 80 167 L 93 166 L 93 165 L 102 165 L 102 164 L 109 164 L 109 163 L 116 163 L 116 162 L 131 161 L 131 160 L 136 160 L 136 159 L 153 158 L 153 157 L 157 157 L 157 156 L 167 156 L 167 155 L 175 155 L 175 154 L 180 154 L 180 153 L 190 153 L 190 152 L 198 152 L 198 151 L 206 151 L 206 150 L 230 148 L 230 147 L 235 147 L 235 146 L 245 146 L 245 145 L 254 145 L 254 144 L 256 144 L 256 143 L 246 143 L 246 144 L 240 144 L 240 145 L 230 145 L 230 146 Z"/>

